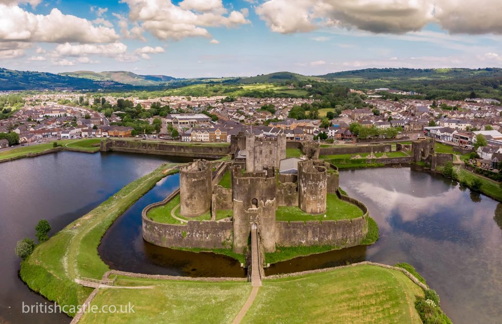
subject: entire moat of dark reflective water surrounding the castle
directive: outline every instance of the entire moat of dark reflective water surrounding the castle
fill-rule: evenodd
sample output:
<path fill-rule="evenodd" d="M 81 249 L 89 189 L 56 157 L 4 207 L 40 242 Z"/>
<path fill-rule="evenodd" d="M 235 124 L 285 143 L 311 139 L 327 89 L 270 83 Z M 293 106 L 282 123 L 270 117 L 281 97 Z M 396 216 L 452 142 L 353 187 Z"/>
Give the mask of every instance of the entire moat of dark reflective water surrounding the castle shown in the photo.
<path fill-rule="evenodd" d="M 0 266 L 4 273 L 0 321 L 27 321 L 28 317 L 19 315 L 21 302 L 45 302 L 17 278 L 19 263 L 11 251 L 18 239 L 33 236 L 32 228 L 41 218 L 48 219 L 54 230 L 61 229 L 166 160 L 148 155 L 63 152 L 0 165 L 0 231 L 2 256 L 7 260 Z M 178 175 L 165 178 L 112 225 L 99 247 L 103 260 L 115 269 L 144 273 L 243 276 L 239 263 L 228 257 L 171 250 L 143 240 L 142 209 L 169 195 L 178 184 Z M 365 259 L 409 262 L 438 291 L 453 322 L 502 321 L 498 309 L 502 302 L 502 229 L 494 219 L 502 224 L 502 205 L 472 196 L 440 176 L 408 168 L 342 171 L 340 184 L 349 196 L 368 207 L 380 227 L 380 240 L 367 248 L 281 262 L 267 269 L 267 274 Z M 64 315 L 37 316 L 36 322 L 69 321 Z"/>

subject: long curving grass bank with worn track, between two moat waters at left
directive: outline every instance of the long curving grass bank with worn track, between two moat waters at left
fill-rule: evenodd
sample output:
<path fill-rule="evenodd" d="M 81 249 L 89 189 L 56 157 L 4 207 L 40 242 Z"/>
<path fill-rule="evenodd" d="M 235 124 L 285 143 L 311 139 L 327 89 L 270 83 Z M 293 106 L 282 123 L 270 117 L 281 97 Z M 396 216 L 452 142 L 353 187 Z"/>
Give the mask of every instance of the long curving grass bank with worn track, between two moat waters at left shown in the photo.
<path fill-rule="evenodd" d="M 152 173 L 130 183 L 88 214 L 70 223 L 48 241 L 38 245 L 21 263 L 20 276 L 28 286 L 60 305 L 79 305 L 92 291 L 75 283 L 78 277 L 101 279 L 109 270 L 98 255 L 97 247 L 108 227 L 140 197 L 151 190 L 166 169 L 162 165 Z M 69 315 L 74 313 L 69 312 Z"/>

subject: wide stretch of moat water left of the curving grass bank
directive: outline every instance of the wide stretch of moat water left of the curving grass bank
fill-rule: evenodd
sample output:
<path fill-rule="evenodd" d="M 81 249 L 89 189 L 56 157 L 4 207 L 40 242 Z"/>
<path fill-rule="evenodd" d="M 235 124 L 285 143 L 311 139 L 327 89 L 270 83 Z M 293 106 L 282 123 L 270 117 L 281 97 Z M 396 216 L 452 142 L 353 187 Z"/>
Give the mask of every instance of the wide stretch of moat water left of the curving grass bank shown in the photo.
<path fill-rule="evenodd" d="M 64 151 L 0 164 L 0 323 L 71 320 L 60 313 L 22 312 L 23 303 L 50 304 L 21 281 L 20 259 L 14 254 L 18 240 L 35 238 L 40 219 L 49 221 L 52 235 L 163 162 L 178 160 L 156 155 Z"/>

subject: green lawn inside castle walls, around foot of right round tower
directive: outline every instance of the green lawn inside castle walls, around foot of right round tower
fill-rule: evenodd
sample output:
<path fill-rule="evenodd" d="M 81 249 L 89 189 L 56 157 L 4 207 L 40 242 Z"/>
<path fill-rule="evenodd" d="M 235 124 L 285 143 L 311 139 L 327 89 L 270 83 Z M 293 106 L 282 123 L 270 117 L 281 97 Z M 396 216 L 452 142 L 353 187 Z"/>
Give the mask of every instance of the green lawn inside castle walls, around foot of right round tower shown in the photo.
<path fill-rule="evenodd" d="M 352 219 L 362 216 L 359 207 L 340 200 L 336 194 L 328 194 L 326 197 L 326 213 L 310 215 L 298 207 L 279 206 L 276 212 L 277 221 L 328 221 L 340 219 Z M 326 217 L 324 217 L 326 215 Z"/>

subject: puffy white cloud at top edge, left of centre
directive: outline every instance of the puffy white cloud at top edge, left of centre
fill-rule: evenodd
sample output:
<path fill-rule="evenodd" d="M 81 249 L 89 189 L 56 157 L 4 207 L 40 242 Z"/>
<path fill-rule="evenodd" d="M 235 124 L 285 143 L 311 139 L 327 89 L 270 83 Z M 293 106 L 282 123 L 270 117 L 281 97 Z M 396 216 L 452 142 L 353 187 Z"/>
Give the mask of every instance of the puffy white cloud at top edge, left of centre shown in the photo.
<path fill-rule="evenodd" d="M 148 31 L 161 40 L 180 40 L 186 37 L 211 37 L 204 27 L 234 27 L 249 24 L 247 9 L 228 15 L 221 0 L 185 0 L 174 5 L 171 1 L 123 0 L 130 8 L 129 22 L 119 20 L 122 35 L 128 37 L 129 23 L 137 31 Z M 115 17 L 117 17 L 115 15 Z M 118 18 L 118 17 L 117 17 Z"/>

